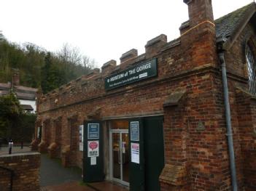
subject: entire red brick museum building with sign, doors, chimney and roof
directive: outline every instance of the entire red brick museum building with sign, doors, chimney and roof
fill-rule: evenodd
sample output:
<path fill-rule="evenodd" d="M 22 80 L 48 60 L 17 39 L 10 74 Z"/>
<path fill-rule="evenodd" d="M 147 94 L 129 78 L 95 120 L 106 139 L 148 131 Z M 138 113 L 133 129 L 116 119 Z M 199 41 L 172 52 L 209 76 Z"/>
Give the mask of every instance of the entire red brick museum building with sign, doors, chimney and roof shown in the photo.
<path fill-rule="evenodd" d="M 212 1 L 184 2 L 179 38 L 39 94 L 33 148 L 87 182 L 256 190 L 255 3 L 214 20 Z"/>

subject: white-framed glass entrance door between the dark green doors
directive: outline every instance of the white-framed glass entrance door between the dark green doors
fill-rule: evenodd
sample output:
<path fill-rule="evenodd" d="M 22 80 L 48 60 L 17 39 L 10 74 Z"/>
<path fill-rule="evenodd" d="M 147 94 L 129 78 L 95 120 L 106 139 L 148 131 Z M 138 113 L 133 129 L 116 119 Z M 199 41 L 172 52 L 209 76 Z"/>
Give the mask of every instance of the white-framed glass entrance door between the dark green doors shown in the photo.
<path fill-rule="evenodd" d="M 110 175 L 121 184 L 129 185 L 128 130 L 110 131 Z"/>

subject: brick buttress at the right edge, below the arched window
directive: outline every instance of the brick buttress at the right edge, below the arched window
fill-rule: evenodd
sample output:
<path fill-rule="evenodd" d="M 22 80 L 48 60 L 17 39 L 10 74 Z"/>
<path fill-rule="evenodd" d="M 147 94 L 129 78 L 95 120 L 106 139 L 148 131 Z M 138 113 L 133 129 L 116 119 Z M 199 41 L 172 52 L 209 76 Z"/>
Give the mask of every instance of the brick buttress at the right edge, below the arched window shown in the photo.
<path fill-rule="evenodd" d="M 256 97 L 251 99 L 248 94 L 238 90 L 237 94 L 239 139 L 241 142 L 241 168 L 244 172 L 244 185 L 247 190 L 256 189 Z"/>

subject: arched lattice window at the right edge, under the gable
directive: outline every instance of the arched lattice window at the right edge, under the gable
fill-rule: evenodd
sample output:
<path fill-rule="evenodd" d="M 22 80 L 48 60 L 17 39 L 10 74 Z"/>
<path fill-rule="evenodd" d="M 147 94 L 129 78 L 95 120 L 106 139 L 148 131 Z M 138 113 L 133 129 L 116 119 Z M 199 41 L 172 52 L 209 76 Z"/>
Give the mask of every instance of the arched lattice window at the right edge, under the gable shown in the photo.
<path fill-rule="evenodd" d="M 252 94 L 256 94 L 256 62 L 255 56 L 248 43 L 245 47 L 245 57 L 247 60 L 249 92 Z"/>

